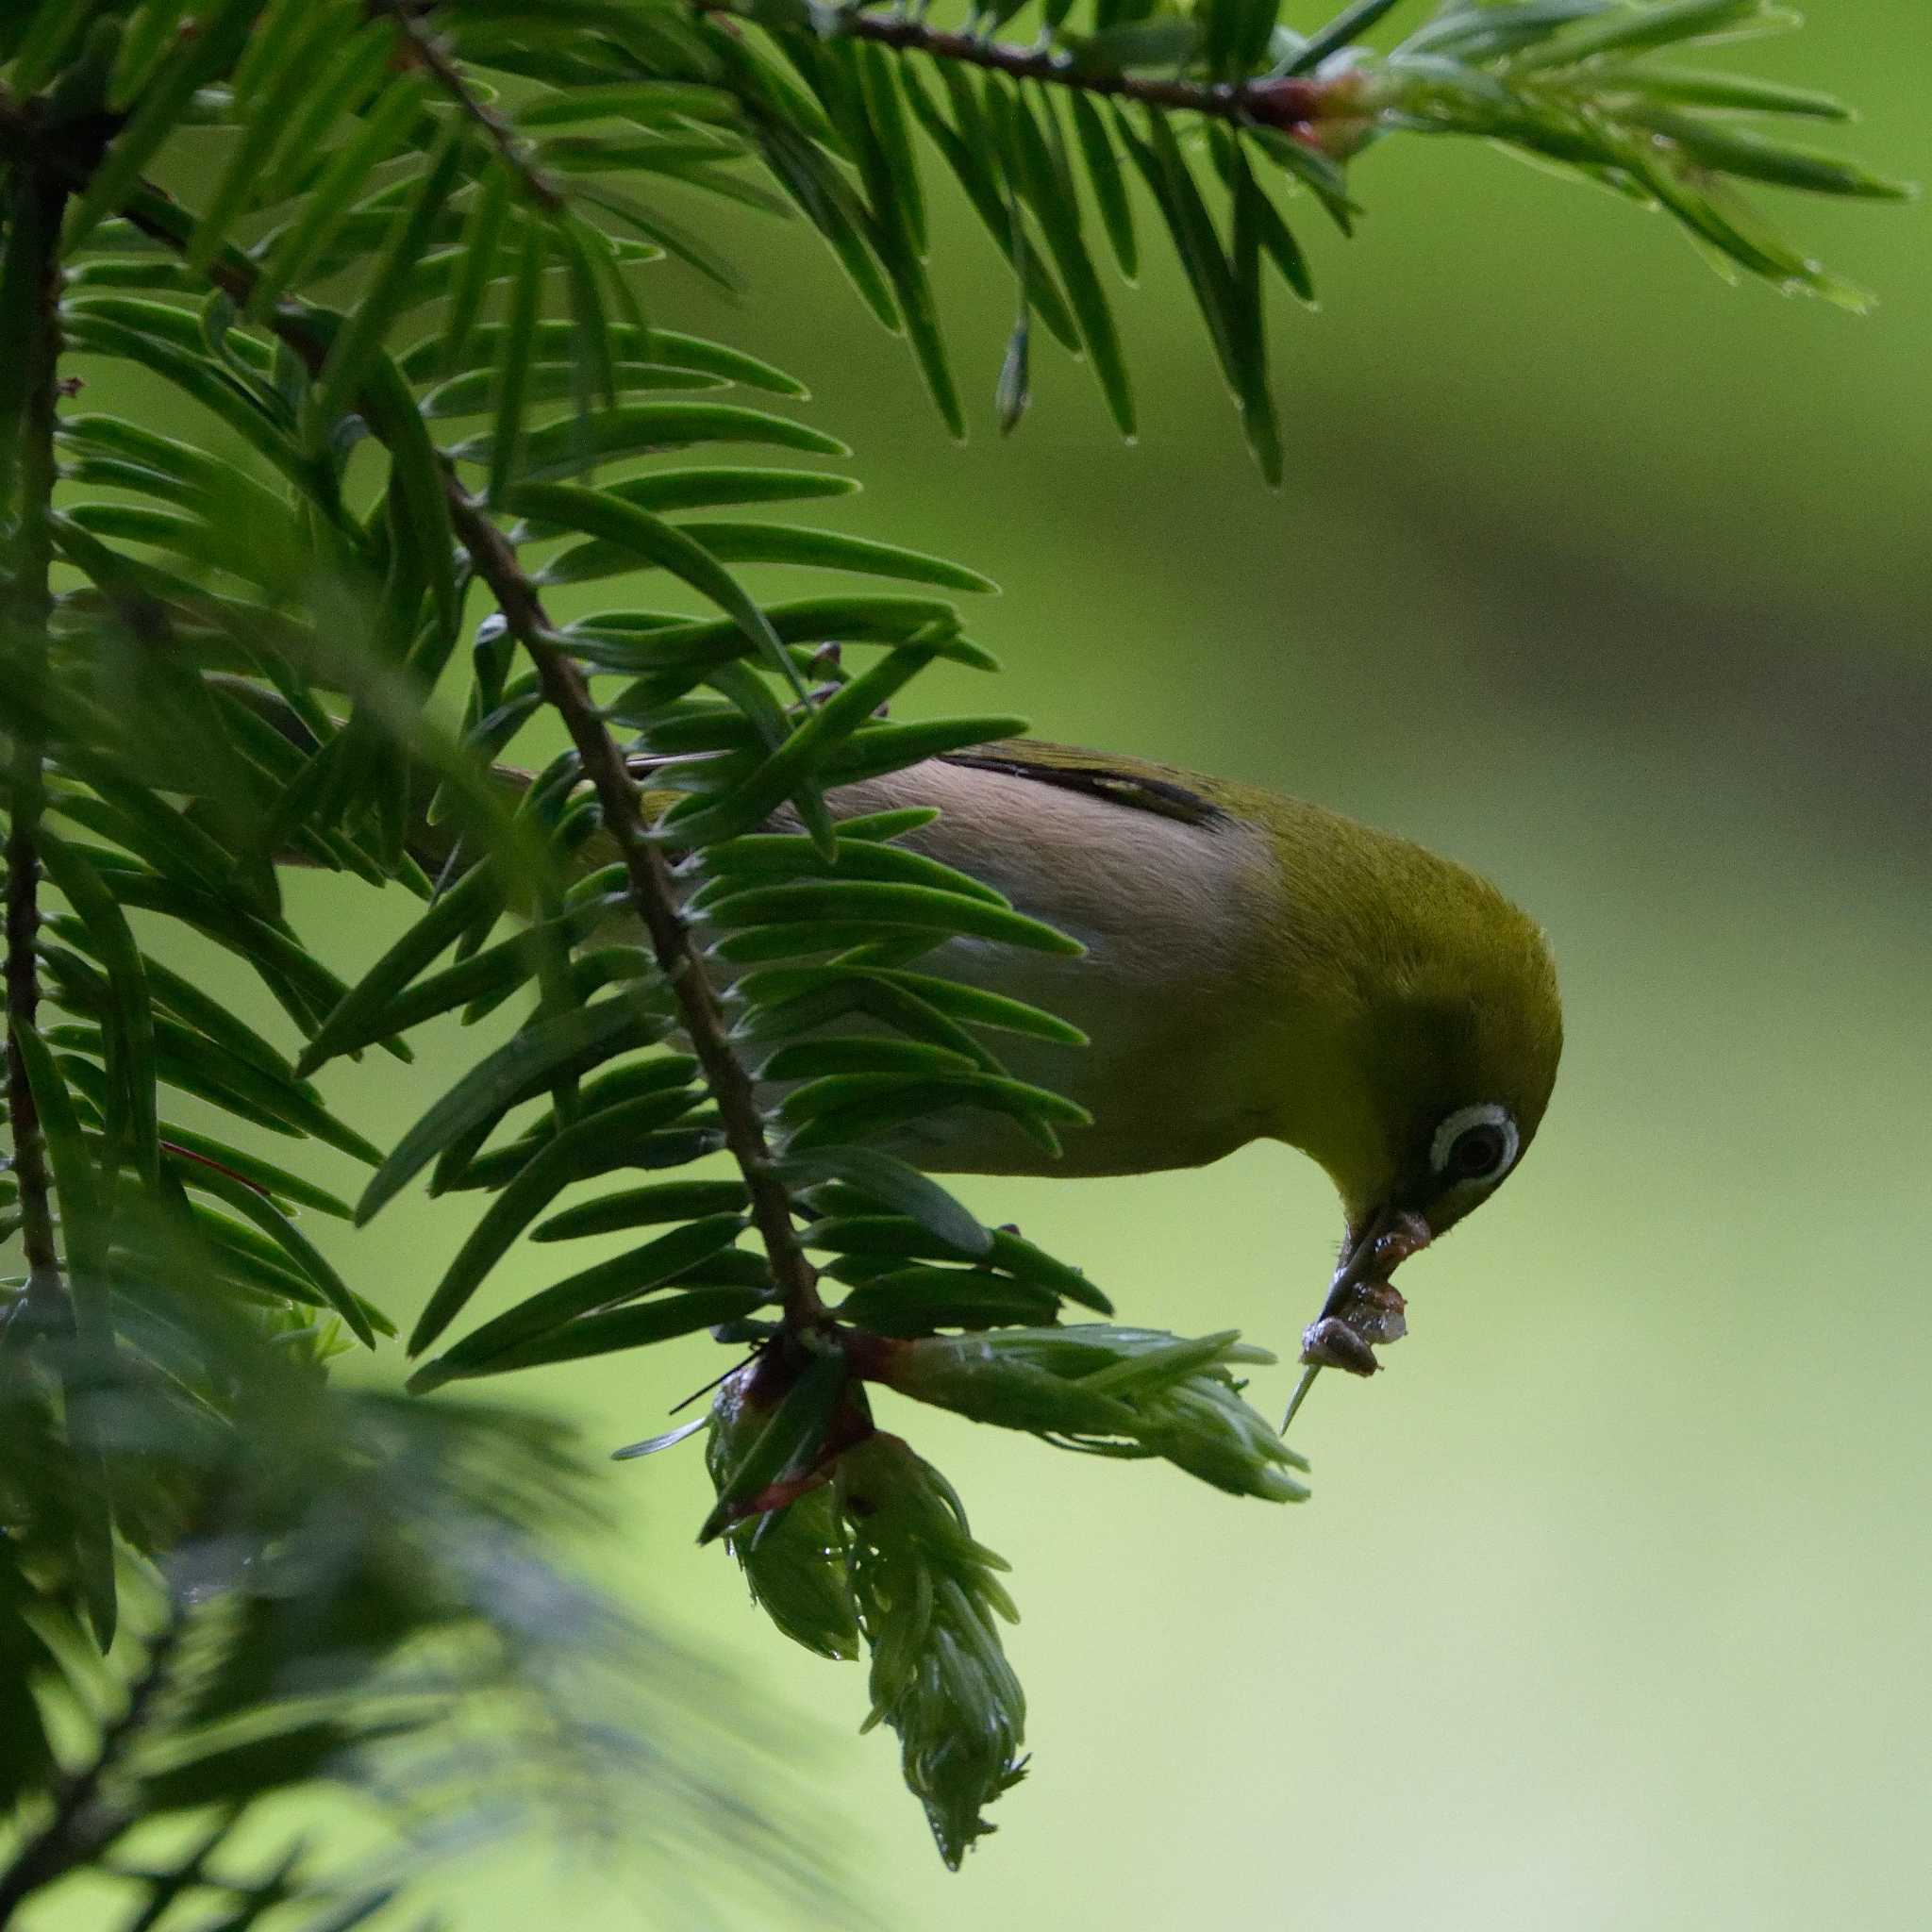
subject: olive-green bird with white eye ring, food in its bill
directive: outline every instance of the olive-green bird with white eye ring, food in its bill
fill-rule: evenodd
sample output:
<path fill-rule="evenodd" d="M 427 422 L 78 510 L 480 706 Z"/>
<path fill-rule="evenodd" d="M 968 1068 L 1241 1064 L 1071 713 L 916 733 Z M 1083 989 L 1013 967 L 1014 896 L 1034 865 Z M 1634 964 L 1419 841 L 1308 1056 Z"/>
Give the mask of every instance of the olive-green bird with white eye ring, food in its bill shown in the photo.
<path fill-rule="evenodd" d="M 1300 1148 L 1347 1215 L 1302 1360 L 1372 1374 L 1372 1347 L 1403 1333 L 1389 1273 L 1495 1192 L 1549 1103 L 1563 1009 L 1538 925 L 1476 873 L 1320 806 L 1024 738 L 833 802 L 939 806 L 906 844 L 1086 945 L 958 939 L 933 968 L 1082 1028 L 1086 1049 L 1003 1055 L 1094 1124 L 1055 1161 L 999 1115 L 945 1113 L 906 1151 L 943 1173 L 1132 1175 L 1250 1140 Z"/>

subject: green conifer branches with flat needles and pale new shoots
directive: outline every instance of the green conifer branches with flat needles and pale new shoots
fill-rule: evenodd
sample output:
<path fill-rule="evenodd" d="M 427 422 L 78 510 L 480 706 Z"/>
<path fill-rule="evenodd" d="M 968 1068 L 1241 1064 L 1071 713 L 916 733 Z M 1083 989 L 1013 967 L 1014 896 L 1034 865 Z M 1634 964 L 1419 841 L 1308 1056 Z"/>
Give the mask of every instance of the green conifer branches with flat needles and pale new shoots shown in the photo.
<path fill-rule="evenodd" d="M 827 800 L 1018 726 L 881 717 L 933 663 L 993 668 L 954 605 L 923 595 L 987 585 L 815 524 L 713 514 L 846 487 L 837 471 L 715 462 L 717 444 L 846 452 L 765 402 L 717 400 L 798 384 L 653 328 L 639 270 L 668 257 L 732 284 L 680 213 L 688 197 L 790 205 L 904 332 L 958 429 L 923 263 L 923 139 L 1014 269 L 1001 419 L 1024 408 L 1037 319 L 1086 355 L 1130 433 L 1095 255 L 1105 238 L 1122 269 L 1138 261 L 1121 191 L 1134 174 L 1271 479 L 1264 286 L 1312 294 L 1277 203 L 1306 197 L 1347 230 L 1347 162 L 1378 139 L 1513 145 L 1667 209 L 1731 265 L 1855 299 L 1735 193 L 1895 193 L 1752 131 L 1835 104 L 1660 60 L 1774 23 L 1756 0 L 1449 6 L 1387 52 L 1360 46 L 1393 12 L 1352 6 L 1300 35 L 1252 4 L 1049 6 L 1022 23 L 1037 25 L 1024 48 L 991 39 L 1010 10 L 952 33 L 667 0 L 230 0 L 193 17 L 46 0 L 0 27 L 8 1213 L 27 1260 L 6 1360 L 43 1445 L 8 1505 L 8 1588 L 21 1631 L 60 1623 L 44 1650 L 56 1677 L 114 1640 L 124 1575 L 158 1605 L 124 1671 L 133 1727 L 108 1718 L 97 1745 L 99 1776 L 128 1791 L 114 1816 L 160 1803 L 124 1752 L 149 1745 L 143 1687 L 174 1681 L 187 1605 L 170 1577 L 226 1522 L 230 1472 L 282 1406 L 276 1378 L 294 1364 L 301 1401 L 325 1403 L 311 1383 L 327 1356 L 390 1331 L 299 1215 L 367 1221 L 425 1173 L 433 1192 L 487 1206 L 410 1339 L 413 1354 L 440 1347 L 415 1389 L 705 1329 L 752 1350 L 707 1432 L 705 1534 L 728 1540 L 808 1648 L 869 1646 L 873 1716 L 900 1733 L 951 1862 L 1020 1768 L 1024 1704 L 995 1623 L 1010 1605 L 945 1480 L 873 1432 L 866 1387 L 1167 1457 L 1236 1493 L 1302 1493 L 1229 1374 L 1256 1350 L 1061 1325 L 1068 1302 L 1111 1310 L 881 1146 L 939 1107 L 1001 1111 L 1045 1150 L 1080 1119 L 999 1061 L 999 1034 L 1066 1039 L 1061 1022 L 922 970 L 962 935 L 1070 943 L 906 852 L 918 813 L 840 821 Z M 207 139 L 220 166 L 205 195 L 176 199 L 170 156 Z M 170 384 L 207 412 L 207 442 L 68 408 L 64 354 Z M 922 595 L 773 603 L 738 576 L 761 564 Z M 632 572 L 663 572 L 715 614 L 622 607 L 553 624 L 543 607 L 549 585 Z M 439 694 L 458 686 L 452 713 Z M 570 752 L 506 779 L 497 761 L 539 719 Z M 348 985 L 284 918 L 286 862 L 400 887 L 423 912 Z M 243 962 L 299 1045 L 286 1053 L 151 956 L 137 935 L 151 918 Z M 406 1063 L 410 1028 L 512 999 L 527 999 L 514 1036 L 392 1148 L 334 1119 L 309 1078 L 346 1053 Z M 220 1130 L 172 1119 L 182 1097 Z M 265 1136 L 365 1161 L 361 1202 L 280 1167 Z M 583 1180 L 721 1150 L 740 1179 L 556 1209 Z M 614 1229 L 643 1238 L 444 1339 L 520 1235 Z M 829 1308 L 825 1283 L 844 1300 Z M 504 1418 L 448 1401 L 423 1414 L 502 1432 L 504 1461 L 533 1455 Z M 218 1449 L 184 1463 L 176 1412 Z M 317 1457 L 307 1486 L 257 1486 L 236 1548 L 313 1540 L 301 1509 L 323 1492 L 379 1544 L 394 1499 L 357 1470 L 394 1459 L 384 1430 L 404 1426 L 435 1428 L 371 1422 L 365 1441 L 359 1416 L 317 1426 L 336 1461 Z M 253 1573 L 207 1588 L 245 1631 Z M 377 1586 L 357 1582 L 363 1598 Z M 330 1600 L 313 1609 L 327 1621 Z M 487 1592 L 462 1615 L 510 1627 Z M 433 1644 L 452 1617 L 446 1592 L 383 1609 L 398 1642 Z M 37 1642 L 21 1656 L 41 1658 Z M 265 1685 L 305 1662 L 299 1646 L 263 1662 L 240 1638 L 222 1654 L 265 1710 Z M 189 1725 L 180 1762 L 230 1770 L 180 1789 L 232 1806 L 334 1764 L 388 1696 L 367 1660 L 355 1669 L 332 1685 L 346 1714 L 259 1718 L 282 1741 L 269 1777 Z M 87 1760 L 56 1774 L 48 1700 L 8 1710 L 17 1762 L 46 1787 L 17 1793 L 15 1872 L 39 1886 L 108 1857 L 112 1837 L 62 1824 L 62 1777 Z M 440 1706 L 410 1716 L 452 1721 Z M 58 1857 L 35 1849 L 48 1845 Z"/>

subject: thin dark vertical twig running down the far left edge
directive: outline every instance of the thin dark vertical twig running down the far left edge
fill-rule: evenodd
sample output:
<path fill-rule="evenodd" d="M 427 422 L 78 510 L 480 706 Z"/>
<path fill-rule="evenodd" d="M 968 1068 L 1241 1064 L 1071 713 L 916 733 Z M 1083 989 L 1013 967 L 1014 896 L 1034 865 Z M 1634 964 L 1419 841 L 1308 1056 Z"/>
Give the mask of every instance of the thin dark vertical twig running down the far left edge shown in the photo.
<path fill-rule="evenodd" d="M 68 187 L 52 172 L 21 168 L 15 176 L 12 220 L 15 247 L 25 249 L 39 303 L 25 344 L 27 402 L 21 413 L 17 535 L 4 622 L 17 647 L 19 707 L 14 738 L 12 806 L 6 838 L 6 1090 L 14 1134 L 14 1175 L 19 1182 L 21 1246 L 27 1254 L 25 1314 L 35 1325 L 68 1320 L 60 1250 L 54 1244 L 54 1192 L 46 1171 L 41 1113 L 27 1084 L 19 1032 L 31 1032 L 41 1012 L 35 939 L 41 929 L 41 854 L 35 835 L 46 798 L 44 746 L 35 730 L 46 684 L 46 622 L 54 611 L 48 572 L 54 556 L 54 423 L 60 365 L 60 218 Z"/>

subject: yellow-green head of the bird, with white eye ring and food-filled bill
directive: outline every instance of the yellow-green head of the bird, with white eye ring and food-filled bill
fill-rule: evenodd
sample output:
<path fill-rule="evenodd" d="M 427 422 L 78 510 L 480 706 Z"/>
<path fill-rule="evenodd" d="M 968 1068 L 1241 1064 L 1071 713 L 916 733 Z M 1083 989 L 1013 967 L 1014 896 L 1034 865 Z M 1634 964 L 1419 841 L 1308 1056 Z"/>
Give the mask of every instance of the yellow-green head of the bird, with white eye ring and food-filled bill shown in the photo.
<path fill-rule="evenodd" d="M 1403 1333 L 1389 1275 L 1480 1208 L 1536 1138 L 1563 1009 L 1542 929 L 1486 879 L 1397 840 L 1349 895 L 1329 958 L 1333 1026 L 1316 1051 L 1325 1082 L 1285 1138 L 1335 1180 L 1347 1215 L 1321 1321 L 1352 1335 L 1308 1360 L 1368 1374 L 1354 1343 Z"/>

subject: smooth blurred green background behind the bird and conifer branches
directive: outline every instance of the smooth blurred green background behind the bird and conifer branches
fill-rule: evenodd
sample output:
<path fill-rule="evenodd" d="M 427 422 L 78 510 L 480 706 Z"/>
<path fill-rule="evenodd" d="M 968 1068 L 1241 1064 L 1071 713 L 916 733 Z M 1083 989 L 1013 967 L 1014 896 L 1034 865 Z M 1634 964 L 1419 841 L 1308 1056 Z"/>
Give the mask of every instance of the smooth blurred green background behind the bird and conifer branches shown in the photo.
<path fill-rule="evenodd" d="M 1748 48 L 1752 71 L 1845 93 L 1864 160 L 1932 174 L 1922 0 L 1812 12 Z M 1005 678 L 960 674 L 933 703 L 991 699 L 1047 736 L 1302 792 L 1530 906 L 1569 1049 L 1524 1177 L 1405 1275 L 1412 1339 L 1389 1374 L 1323 1381 L 1298 1509 L 881 1414 L 960 1486 L 1026 1619 L 1034 1772 L 958 1878 L 893 1743 L 848 1735 L 860 1669 L 788 1646 L 692 1548 L 694 1449 L 612 1470 L 622 1532 L 587 1555 L 804 1714 L 823 1832 L 908 1932 L 1917 1928 L 1926 218 L 1776 197 L 1878 290 L 1857 321 L 1725 290 L 1662 220 L 1480 147 L 1397 141 L 1356 184 L 1354 243 L 1300 222 L 1321 313 L 1275 317 L 1281 495 L 1165 259 L 1121 299 L 1140 444 L 1051 342 L 1001 442 L 1010 292 L 947 191 L 935 265 L 976 392 L 966 448 L 800 224 L 726 220 L 752 299 L 663 270 L 655 315 L 811 384 L 867 485 L 835 506 L 842 527 L 1001 580 L 970 614 Z M 338 879 L 303 881 L 296 916 L 342 929 L 344 970 L 388 931 Z M 369 1063 L 332 1094 L 381 1138 L 466 1045 L 429 1036 L 415 1076 Z M 1339 1236 L 1321 1177 L 1279 1148 L 962 1192 L 1082 1262 L 1126 1320 L 1240 1325 L 1287 1358 Z M 336 1252 L 408 1318 L 464 1223 L 462 1200 L 412 1200 Z M 541 1279 L 541 1254 L 514 1258 L 479 1312 Z M 614 1445 L 715 1370 L 699 1341 L 520 1393 Z M 1279 1406 L 1291 1378 L 1252 1393 Z M 614 1870 L 539 1847 L 444 1889 L 477 1932 L 692 1922 Z"/>

